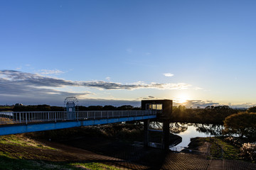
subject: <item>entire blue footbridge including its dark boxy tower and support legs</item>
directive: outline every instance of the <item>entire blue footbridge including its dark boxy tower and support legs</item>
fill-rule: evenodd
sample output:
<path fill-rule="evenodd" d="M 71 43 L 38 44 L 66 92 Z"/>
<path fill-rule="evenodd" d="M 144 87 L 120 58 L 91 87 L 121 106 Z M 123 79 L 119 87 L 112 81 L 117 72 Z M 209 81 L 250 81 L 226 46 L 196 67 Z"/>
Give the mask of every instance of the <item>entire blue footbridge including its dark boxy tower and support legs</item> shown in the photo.
<path fill-rule="evenodd" d="M 143 121 L 144 146 L 149 147 L 149 121 L 154 119 L 163 123 L 162 149 L 169 149 L 171 100 L 142 101 L 141 111 L 75 111 L 69 101 L 66 106 L 66 111 L 0 112 L 0 135 Z"/>

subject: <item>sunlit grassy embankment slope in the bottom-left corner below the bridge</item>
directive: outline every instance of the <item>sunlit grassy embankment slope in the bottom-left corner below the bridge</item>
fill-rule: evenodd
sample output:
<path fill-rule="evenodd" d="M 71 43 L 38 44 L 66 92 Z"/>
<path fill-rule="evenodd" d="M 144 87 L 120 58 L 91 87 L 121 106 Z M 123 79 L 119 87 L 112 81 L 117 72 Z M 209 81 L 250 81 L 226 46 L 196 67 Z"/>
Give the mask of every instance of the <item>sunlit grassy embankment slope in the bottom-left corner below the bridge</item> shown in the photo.
<path fill-rule="evenodd" d="M 35 155 L 33 149 L 46 154 Z M 57 149 L 24 135 L 2 136 L 0 137 L 0 169 L 116 169 L 114 166 L 97 162 L 55 162 L 54 159 L 46 161 L 49 150 L 58 152 Z"/>

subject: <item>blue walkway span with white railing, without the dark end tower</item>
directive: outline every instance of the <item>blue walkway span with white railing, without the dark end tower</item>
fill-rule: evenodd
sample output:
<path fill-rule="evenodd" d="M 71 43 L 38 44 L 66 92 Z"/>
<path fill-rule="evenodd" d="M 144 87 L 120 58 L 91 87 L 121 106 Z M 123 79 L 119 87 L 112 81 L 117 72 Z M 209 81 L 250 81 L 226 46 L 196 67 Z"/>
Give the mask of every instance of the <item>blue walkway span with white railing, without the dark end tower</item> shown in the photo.
<path fill-rule="evenodd" d="M 0 135 L 156 118 L 156 111 L 1 112 Z"/>

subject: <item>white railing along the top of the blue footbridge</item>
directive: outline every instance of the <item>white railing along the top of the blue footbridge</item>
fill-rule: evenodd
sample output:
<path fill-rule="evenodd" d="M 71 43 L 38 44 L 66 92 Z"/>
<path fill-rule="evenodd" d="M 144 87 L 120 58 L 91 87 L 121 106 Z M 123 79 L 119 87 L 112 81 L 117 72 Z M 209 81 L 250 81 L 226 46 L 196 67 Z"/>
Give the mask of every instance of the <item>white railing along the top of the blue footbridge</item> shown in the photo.
<path fill-rule="evenodd" d="M 0 125 L 17 123 L 41 123 L 66 120 L 95 120 L 108 118 L 156 115 L 156 111 L 33 111 L 0 112 Z"/>

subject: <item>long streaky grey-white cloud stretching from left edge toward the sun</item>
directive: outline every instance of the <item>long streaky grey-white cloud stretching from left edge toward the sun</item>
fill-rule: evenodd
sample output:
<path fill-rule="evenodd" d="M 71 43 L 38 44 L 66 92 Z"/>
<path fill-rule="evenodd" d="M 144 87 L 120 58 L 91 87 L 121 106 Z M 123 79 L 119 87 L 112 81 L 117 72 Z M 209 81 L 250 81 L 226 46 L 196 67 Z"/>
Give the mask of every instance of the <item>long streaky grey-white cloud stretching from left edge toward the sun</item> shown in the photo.
<path fill-rule="evenodd" d="M 146 84 L 143 81 L 134 84 L 121 84 L 118 82 L 110 81 L 68 81 L 65 79 L 57 79 L 53 77 L 45 77 L 39 74 L 31 74 L 26 72 L 18 72 L 14 70 L 0 71 L 0 80 L 9 81 L 12 84 L 20 86 L 36 86 L 36 87 L 63 87 L 63 86 L 85 86 L 93 89 L 105 90 L 134 90 L 134 89 L 189 89 L 191 84 L 186 83 L 150 83 Z"/>

